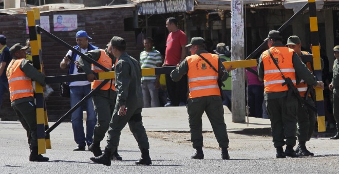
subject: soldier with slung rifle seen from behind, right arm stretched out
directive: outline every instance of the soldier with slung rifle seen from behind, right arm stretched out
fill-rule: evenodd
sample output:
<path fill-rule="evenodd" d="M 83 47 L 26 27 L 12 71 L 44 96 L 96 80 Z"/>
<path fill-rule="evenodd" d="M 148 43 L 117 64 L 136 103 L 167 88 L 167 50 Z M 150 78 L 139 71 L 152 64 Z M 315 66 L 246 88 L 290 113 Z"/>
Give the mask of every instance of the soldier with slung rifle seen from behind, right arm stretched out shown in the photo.
<path fill-rule="evenodd" d="M 323 82 L 317 82 L 306 65 L 300 61 L 294 50 L 285 47 L 281 42 L 280 32 L 270 31 L 267 40 L 269 50 L 263 52 L 258 62 L 258 75 L 265 85 L 264 97 L 267 112 L 271 120 L 272 138 L 276 148 L 276 158 L 299 157 L 293 147 L 296 144 L 297 97 L 282 85 L 290 78 L 295 85 L 300 79 L 313 86 L 323 88 Z M 269 52 L 270 51 L 270 52 Z M 271 53 L 274 60 L 271 58 Z M 273 62 L 275 61 L 280 70 Z M 286 141 L 285 141 L 286 139 Z M 284 152 L 283 146 L 286 145 Z"/>

